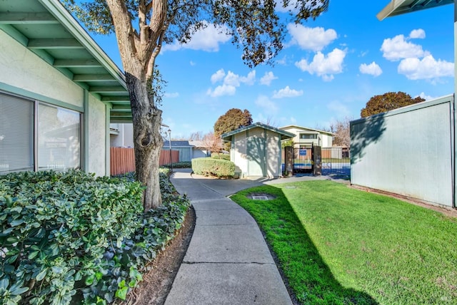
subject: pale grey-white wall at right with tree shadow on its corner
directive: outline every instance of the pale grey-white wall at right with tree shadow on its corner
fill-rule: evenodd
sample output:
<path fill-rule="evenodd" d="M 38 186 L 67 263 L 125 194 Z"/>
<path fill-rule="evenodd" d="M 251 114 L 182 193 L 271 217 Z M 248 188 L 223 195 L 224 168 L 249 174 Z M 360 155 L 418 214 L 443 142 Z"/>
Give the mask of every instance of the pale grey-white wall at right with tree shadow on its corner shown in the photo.
<path fill-rule="evenodd" d="M 351 122 L 351 183 L 452 206 L 453 103 L 449 96 Z"/>

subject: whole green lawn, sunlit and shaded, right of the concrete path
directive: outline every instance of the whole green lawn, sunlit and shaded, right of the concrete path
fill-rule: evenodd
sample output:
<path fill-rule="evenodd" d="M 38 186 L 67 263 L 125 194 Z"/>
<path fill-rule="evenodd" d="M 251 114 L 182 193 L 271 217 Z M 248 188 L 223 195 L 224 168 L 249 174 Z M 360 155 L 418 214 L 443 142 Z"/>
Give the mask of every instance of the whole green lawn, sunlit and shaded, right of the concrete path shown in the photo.
<path fill-rule="evenodd" d="M 265 232 L 302 304 L 457 304 L 457 219 L 331 181 L 231 199 Z"/>

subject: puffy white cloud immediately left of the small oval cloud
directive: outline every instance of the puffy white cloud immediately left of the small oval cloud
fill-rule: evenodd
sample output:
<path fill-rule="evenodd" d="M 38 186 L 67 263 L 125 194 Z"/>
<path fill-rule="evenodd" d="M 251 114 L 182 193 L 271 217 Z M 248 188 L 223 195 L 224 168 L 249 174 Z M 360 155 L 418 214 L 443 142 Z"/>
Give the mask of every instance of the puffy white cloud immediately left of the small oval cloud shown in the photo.
<path fill-rule="evenodd" d="M 326 56 L 318 51 L 311 63 L 308 63 L 306 59 L 302 59 L 301 61 L 297 61 L 295 66 L 300 68 L 301 71 L 307 71 L 311 75 L 316 73 L 317 76 L 322 76 L 324 81 L 331 81 L 333 74 L 343 72 L 343 60 L 345 56 L 346 50 L 343 51 L 339 48 L 334 48 Z"/>

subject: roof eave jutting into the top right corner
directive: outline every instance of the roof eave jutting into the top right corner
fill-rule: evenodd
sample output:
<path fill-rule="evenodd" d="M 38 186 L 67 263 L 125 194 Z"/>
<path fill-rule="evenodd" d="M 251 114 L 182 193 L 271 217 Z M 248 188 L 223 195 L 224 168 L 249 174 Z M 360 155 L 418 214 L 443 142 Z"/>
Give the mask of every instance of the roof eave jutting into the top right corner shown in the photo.
<path fill-rule="evenodd" d="M 392 0 L 376 17 L 379 20 L 383 20 L 391 16 L 453 3 L 454 0 Z"/>

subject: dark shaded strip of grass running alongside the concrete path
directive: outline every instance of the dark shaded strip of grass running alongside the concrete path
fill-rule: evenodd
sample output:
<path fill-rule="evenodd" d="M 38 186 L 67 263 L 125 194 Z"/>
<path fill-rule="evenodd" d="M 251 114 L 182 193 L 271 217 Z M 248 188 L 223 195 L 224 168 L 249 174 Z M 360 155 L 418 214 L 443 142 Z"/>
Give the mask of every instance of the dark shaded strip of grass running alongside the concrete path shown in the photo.
<path fill-rule="evenodd" d="M 259 192 L 274 200 L 252 200 Z M 248 211 L 265 234 L 289 290 L 301 304 L 378 304 L 363 291 L 347 289 L 333 277 L 281 189 L 253 187 L 231 196 Z"/>

